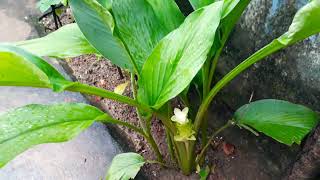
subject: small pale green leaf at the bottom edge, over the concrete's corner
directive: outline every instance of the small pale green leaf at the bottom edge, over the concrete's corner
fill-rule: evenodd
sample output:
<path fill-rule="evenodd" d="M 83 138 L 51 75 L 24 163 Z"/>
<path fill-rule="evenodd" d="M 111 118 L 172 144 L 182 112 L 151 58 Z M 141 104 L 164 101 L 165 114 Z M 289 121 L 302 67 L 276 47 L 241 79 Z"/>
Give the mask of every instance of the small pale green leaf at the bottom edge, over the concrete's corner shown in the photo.
<path fill-rule="evenodd" d="M 112 160 L 106 180 L 134 179 L 144 164 L 144 158 L 137 153 L 118 154 Z"/>

